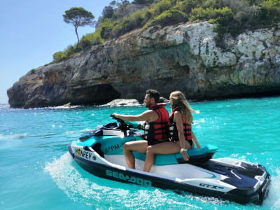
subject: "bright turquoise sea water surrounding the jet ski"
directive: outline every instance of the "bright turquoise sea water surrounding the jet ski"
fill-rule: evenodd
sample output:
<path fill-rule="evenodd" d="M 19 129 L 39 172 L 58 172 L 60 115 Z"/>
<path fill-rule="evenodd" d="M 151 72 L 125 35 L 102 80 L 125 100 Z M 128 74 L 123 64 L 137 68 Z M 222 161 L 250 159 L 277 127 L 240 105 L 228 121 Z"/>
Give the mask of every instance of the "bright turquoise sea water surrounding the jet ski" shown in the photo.
<path fill-rule="evenodd" d="M 101 179 L 73 162 L 67 145 L 144 106 L 10 109 L 0 105 L 0 209 L 280 209 L 280 97 L 191 102 L 193 126 L 215 158 L 264 165 L 272 185 L 262 207 Z M 170 106 L 167 106 L 170 111 Z"/>

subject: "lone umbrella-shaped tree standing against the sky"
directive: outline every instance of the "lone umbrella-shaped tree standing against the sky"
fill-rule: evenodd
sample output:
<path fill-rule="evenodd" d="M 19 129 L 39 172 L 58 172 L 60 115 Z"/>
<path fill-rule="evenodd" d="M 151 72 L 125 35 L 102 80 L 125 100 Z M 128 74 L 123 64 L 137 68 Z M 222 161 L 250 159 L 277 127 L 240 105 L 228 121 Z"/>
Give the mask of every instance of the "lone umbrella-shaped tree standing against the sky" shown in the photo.
<path fill-rule="evenodd" d="M 84 27 L 85 25 L 94 26 L 94 15 L 90 11 L 85 10 L 82 7 L 72 7 L 66 10 L 63 15 L 64 22 L 73 25 L 78 38 L 78 27 Z M 78 38 L 78 43 L 80 42 Z"/>

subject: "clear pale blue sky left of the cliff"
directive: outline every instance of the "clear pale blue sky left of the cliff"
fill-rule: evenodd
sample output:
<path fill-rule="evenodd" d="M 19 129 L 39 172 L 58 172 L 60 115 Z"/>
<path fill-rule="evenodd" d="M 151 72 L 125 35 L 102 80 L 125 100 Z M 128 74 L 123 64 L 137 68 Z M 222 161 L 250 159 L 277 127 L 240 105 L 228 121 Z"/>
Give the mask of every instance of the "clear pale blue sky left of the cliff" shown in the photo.
<path fill-rule="evenodd" d="M 0 103 L 8 103 L 7 90 L 27 71 L 52 61 L 53 53 L 77 42 L 73 25 L 62 18 L 65 10 L 83 7 L 95 20 L 112 0 L 1 0 Z M 78 34 L 94 27 L 79 27 Z"/>

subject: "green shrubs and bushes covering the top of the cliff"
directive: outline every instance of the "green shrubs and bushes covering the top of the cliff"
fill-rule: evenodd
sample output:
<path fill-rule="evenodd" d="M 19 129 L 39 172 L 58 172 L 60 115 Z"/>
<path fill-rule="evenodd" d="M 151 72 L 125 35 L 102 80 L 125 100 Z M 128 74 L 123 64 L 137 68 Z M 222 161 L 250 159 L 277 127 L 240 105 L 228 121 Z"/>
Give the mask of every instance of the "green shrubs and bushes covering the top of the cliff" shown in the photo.
<path fill-rule="evenodd" d="M 280 22 L 280 0 L 134 0 L 132 3 L 145 4 L 148 8 L 121 19 L 120 11 L 124 11 L 130 2 L 111 3 L 110 10 L 104 10 L 104 16 L 100 18 L 102 24 L 97 31 L 83 36 L 79 45 L 55 52 L 55 62 L 141 27 L 165 27 L 188 20 L 209 21 L 216 24 L 217 41 L 221 41 L 225 33 L 237 36 L 246 29 L 269 27 Z"/>

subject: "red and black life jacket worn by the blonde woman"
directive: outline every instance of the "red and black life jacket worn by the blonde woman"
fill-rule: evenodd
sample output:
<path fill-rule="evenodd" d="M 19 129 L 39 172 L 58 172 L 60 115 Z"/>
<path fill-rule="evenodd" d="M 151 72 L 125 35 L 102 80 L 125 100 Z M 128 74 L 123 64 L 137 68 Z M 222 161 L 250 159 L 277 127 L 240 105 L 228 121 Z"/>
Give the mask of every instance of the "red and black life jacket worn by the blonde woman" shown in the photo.
<path fill-rule="evenodd" d="M 172 141 L 179 141 L 179 134 L 178 134 L 178 130 L 177 130 L 177 125 L 173 121 L 175 111 L 181 111 L 181 107 L 176 107 L 173 110 L 173 113 L 169 118 L 169 120 L 170 120 L 169 134 L 170 134 L 170 139 Z M 183 120 L 183 132 L 184 132 L 184 135 L 185 135 L 185 140 L 191 141 L 192 140 L 192 125 L 186 123 L 186 120 Z"/>

